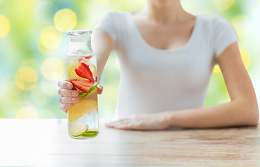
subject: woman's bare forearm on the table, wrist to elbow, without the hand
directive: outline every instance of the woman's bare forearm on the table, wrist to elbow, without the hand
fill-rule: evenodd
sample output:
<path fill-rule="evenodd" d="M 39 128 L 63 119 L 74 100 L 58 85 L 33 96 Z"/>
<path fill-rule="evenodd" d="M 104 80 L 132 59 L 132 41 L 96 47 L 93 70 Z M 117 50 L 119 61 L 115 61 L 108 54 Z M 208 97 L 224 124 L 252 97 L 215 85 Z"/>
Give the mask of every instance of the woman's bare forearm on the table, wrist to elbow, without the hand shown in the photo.
<path fill-rule="evenodd" d="M 203 109 L 167 111 L 163 113 L 169 127 L 231 127 L 257 125 L 259 111 L 257 104 L 241 101 L 228 102 Z"/>

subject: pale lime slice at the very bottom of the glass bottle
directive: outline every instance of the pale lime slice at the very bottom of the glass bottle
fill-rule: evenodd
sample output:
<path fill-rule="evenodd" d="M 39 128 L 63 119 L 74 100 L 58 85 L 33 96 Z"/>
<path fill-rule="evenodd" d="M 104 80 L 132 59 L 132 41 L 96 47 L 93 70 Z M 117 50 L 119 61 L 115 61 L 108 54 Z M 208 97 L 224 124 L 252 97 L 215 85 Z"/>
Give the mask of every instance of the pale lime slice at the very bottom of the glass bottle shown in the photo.
<path fill-rule="evenodd" d="M 70 135 L 77 137 L 81 134 L 85 134 L 88 131 L 88 125 L 80 121 L 74 121 L 69 124 L 69 133 Z"/>

